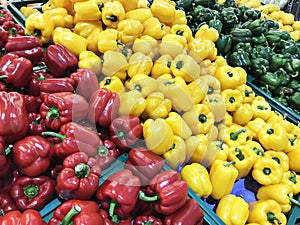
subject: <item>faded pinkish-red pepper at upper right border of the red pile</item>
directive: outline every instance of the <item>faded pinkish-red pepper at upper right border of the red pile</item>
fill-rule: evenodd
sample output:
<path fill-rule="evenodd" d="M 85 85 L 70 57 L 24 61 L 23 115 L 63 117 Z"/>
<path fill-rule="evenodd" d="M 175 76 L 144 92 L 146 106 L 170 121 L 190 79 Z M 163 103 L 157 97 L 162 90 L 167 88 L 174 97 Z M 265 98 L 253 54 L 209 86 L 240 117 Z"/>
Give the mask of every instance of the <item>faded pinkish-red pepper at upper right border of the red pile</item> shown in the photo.
<path fill-rule="evenodd" d="M 97 76 L 90 69 L 77 69 L 70 74 L 70 78 L 75 81 L 76 93 L 86 99 L 90 99 L 92 94 L 99 89 Z"/>

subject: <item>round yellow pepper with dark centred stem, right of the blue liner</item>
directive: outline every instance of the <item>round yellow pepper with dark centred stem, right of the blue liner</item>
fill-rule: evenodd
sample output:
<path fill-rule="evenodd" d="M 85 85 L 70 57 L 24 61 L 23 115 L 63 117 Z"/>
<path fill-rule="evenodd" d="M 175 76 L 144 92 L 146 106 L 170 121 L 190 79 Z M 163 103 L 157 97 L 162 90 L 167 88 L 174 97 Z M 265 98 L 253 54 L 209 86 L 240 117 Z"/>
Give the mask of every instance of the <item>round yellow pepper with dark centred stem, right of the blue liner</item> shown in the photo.
<path fill-rule="evenodd" d="M 253 165 L 252 177 L 262 185 L 278 184 L 282 176 L 283 171 L 274 159 L 261 157 Z"/>

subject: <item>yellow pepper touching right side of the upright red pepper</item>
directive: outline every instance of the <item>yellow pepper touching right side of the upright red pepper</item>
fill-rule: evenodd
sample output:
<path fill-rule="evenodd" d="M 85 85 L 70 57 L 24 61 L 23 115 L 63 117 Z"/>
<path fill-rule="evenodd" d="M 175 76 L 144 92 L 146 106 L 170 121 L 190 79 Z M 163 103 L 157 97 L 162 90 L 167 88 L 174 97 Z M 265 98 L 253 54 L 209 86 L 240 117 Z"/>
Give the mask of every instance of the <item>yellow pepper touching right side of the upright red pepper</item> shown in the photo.
<path fill-rule="evenodd" d="M 131 90 L 120 94 L 120 115 L 140 116 L 146 108 L 147 102 L 142 93 Z"/>

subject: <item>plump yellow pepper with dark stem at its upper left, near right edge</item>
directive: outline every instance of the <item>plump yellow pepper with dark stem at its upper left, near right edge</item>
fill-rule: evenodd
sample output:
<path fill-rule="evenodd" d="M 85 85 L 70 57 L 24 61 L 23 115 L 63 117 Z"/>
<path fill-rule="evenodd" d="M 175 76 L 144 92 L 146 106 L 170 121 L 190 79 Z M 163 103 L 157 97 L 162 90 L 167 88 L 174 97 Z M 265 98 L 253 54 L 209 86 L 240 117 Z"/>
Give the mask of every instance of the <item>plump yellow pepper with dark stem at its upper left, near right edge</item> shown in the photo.
<path fill-rule="evenodd" d="M 266 123 L 258 131 L 257 137 L 266 150 L 282 151 L 289 142 L 285 129 L 278 123 Z"/>

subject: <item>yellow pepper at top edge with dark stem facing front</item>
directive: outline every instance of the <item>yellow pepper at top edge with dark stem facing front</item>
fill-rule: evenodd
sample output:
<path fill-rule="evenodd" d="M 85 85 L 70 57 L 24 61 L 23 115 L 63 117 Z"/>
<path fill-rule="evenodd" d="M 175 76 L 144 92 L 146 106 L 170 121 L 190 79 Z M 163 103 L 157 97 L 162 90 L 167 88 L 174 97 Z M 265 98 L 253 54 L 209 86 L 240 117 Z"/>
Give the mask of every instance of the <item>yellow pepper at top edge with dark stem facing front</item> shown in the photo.
<path fill-rule="evenodd" d="M 125 9 L 119 1 L 106 2 L 102 8 L 102 22 L 109 28 L 117 28 L 125 19 Z"/>

